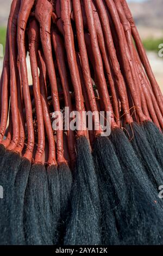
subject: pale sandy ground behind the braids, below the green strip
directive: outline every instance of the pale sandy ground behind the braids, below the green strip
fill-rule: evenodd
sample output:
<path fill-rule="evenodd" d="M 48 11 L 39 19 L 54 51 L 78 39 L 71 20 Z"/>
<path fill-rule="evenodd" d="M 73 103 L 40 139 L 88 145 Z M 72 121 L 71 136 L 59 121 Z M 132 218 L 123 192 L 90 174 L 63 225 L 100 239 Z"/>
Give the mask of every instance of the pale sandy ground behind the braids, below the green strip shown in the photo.
<path fill-rule="evenodd" d="M 161 91 L 163 93 L 163 57 L 159 57 L 158 54 L 156 54 L 155 52 L 148 52 L 148 59 L 149 59 L 149 62 L 151 63 L 152 70 L 154 72 L 156 80 L 158 81 Z M 3 58 L 0 58 L 0 75 L 2 72 L 2 66 L 3 66 Z M 29 84 L 32 84 L 29 56 L 27 57 L 27 68 L 28 68 L 28 81 L 29 81 Z"/>

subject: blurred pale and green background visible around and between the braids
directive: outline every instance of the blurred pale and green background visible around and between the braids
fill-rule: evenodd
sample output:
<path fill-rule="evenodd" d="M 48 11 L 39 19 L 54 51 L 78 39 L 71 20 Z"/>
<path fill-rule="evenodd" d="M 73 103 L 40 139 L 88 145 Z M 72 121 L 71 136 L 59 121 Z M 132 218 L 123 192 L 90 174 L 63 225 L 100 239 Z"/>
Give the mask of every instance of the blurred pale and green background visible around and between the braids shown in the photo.
<path fill-rule="evenodd" d="M 10 11 L 11 0 L 0 0 L 0 44 L 5 45 L 5 34 Z M 162 93 L 163 93 L 163 57 L 158 56 L 159 44 L 163 44 L 163 0 L 128 0 L 143 45 L 145 46 Z M 27 57 L 30 74 L 29 58 Z M 0 57 L 0 75 L 3 58 Z M 32 84 L 29 75 L 29 83 Z"/>

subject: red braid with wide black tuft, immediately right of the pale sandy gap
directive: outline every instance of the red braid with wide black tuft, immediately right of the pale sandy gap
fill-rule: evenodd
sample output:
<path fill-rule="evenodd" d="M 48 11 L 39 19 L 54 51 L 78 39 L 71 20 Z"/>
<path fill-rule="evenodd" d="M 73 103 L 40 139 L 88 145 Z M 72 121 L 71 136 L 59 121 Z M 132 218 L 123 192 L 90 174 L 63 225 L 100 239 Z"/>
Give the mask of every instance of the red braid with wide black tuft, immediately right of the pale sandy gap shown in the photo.
<path fill-rule="evenodd" d="M 37 70 L 37 55 L 39 50 L 39 26 L 36 20 L 29 22 L 29 53 L 33 78 L 34 99 L 38 122 L 38 142 L 35 153 L 35 163 L 29 173 L 26 197 L 26 241 L 28 245 L 52 244 L 52 216 L 49 204 L 48 180 L 43 153 L 45 150 L 45 134 L 40 95 L 39 74 Z M 33 227 L 32 227 L 33 225 Z"/>

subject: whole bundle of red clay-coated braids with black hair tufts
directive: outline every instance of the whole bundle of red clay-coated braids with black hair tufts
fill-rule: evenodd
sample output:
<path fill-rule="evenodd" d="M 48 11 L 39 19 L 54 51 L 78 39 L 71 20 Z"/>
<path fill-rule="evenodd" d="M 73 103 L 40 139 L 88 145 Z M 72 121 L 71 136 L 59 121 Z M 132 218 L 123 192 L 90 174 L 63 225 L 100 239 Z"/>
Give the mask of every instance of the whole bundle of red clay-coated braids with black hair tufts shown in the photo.
<path fill-rule="evenodd" d="M 163 243 L 163 97 L 126 0 L 12 0 L 0 85 L 1 245 Z"/>

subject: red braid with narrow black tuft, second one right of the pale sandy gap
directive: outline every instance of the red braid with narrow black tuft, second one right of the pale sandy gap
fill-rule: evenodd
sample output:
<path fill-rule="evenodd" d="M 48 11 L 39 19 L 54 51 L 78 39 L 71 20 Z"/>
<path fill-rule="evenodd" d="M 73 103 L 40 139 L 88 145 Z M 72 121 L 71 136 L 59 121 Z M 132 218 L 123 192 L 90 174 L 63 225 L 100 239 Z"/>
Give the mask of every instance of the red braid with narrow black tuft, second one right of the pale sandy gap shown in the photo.
<path fill-rule="evenodd" d="M 59 174 L 57 170 L 57 161 L 55 159 L 55 142 L 53 136 L 53 130 L 51 125 L 51 119 L 49 118 L 49 107 L 47 101 L 46 92 L 46 65 L 42 51 L 39 51 L 38 64 L 40 69 L 40 92 L 42 102 L 43 119 L 45 123 L 45 129 L 48 137 L 48 167 L 47 167 L 47 179 L 49 187 L 49 200 L 52 215 L 52 241 L 53 245 L 57 245 L 59 242 L 59 221 L 60 221 L 60 184 Z M 62 206 L 62 207 L 65 207 Z"/>

